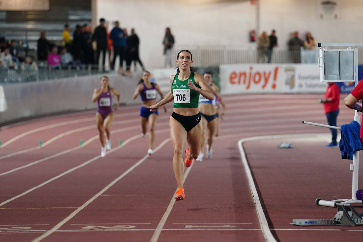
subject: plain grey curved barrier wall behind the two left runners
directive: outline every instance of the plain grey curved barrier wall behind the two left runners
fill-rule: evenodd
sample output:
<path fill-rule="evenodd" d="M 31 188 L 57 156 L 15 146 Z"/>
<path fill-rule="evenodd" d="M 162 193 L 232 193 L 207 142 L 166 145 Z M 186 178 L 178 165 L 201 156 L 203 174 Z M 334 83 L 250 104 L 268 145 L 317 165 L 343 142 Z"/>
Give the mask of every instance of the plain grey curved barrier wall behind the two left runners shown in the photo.
<path fill-rule="evenodd" d="M 100 86 L 99 80 L 102 76 L 104 75 L 3 86 L 4 101 L 6 101 L 8 109 L 0 112 L 0 124 L 19 118 L 71 110 L 95 109 L 97 103 L 92 102 L 92 94 L 94 88 Z M 132 94 L 136 83 L 140 80 L 141 73 L 134 73 L 132 78 L 118 74 L 107 76 L 110 79 L 110 86 L 116 88 L 121 94 L 121 103 L 140 103 L 139 98 L 132 99 Z M 113 103 L 116 100 L 116 97 L 113 97 Z"/>

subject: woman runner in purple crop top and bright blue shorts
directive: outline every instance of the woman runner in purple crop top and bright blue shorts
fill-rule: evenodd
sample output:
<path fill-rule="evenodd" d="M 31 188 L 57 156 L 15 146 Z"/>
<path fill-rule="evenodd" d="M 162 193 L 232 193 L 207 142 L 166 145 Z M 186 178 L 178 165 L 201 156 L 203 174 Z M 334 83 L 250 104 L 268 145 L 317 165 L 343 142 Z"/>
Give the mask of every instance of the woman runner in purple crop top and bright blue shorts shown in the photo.
<path fill-rule="evenodd" d="M 149 156 L 152 154 L 152 145 L 154 144 L 155 132 L 154 127 L 156 124 L 156 118 L 158 117 L 158 112 L 150 112 L 150 109 L 147 106 L 151 106 L 156 104 L 156 94 L 159 93 L 161 98 L 164 98 L 163 92 L 160 90 L 159 85 L 156 83 L 150 82 L 151 74 L 147 70 L 142 73 L 141 80 L 138 83 L 138 86 L 135 90 L 133 98 L 136 99 L 139 94 L 141 97 L 141 137 L 144 137 L 147 131 L 147 123 L 150 121 L 150 135 L 149 135 L 149 149 L 147 153 Z M 165 112 L 167 111 L 164 106 Z"/>

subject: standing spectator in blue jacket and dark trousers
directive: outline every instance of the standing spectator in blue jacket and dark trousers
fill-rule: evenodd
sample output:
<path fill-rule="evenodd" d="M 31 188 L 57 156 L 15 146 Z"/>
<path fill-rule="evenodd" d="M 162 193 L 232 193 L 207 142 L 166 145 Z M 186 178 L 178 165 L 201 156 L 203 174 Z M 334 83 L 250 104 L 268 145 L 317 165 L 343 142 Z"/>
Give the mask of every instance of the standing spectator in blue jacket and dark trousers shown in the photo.
<path fill-rule="evenodd" d="M 114 48 L 114 57 L 112 59 L 112 68 L 115 67 L 117 56 L 120 58 L 120 70 L 123 69 L 123 60 L 125 59 L 126 37 L 125 32 L 120 28 L 120 23 L 115 21 L 115 27 L 111 30 L 110 39 Z"/>

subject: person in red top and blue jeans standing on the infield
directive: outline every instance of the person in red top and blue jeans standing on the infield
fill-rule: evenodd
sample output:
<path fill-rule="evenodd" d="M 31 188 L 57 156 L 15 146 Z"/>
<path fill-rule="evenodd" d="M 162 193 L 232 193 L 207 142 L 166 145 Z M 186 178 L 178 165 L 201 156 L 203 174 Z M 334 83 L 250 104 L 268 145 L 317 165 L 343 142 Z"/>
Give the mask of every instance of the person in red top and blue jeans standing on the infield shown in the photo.
<path fill-rule="evenodd" d="M 321 99 L 321 102 L 324 105 L 324 111 L 326 115 L 326 119 L 328 120 L 328 125 L 337 126 L 337 117 L 339 114 L 339 99 L 340 99 L 340 89 L 337 84 L 334 82 L 327 82 L 328 87 L 326 88 L 325 96 Z M 325 147 L 337 147 L 337 130 L 330 129 L 331 131 L 331 143 L 325 145 Z"/>

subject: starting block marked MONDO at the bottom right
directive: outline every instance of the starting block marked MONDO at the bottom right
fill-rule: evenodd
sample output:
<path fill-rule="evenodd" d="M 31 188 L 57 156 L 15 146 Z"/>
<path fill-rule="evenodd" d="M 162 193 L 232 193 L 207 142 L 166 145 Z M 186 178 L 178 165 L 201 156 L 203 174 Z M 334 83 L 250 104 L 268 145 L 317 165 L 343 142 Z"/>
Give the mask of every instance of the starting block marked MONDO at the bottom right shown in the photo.
<path fill-rule="evenodd" d="M 339 225 L 357 226 L 363 225 L 363 218 L 350 204 L 337 202 L 337 214 L 333 219 L 293 219 L 291 225 L 311 226 L 311 225 Z"/>

